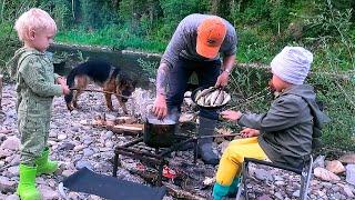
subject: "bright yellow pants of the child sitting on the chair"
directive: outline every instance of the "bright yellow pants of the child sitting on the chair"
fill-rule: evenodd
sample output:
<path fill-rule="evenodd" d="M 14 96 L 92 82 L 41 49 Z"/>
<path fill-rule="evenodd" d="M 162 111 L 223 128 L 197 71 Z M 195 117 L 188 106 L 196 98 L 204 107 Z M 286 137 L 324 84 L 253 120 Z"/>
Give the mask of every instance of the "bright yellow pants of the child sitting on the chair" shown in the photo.
<path fill-rule="evenodd" d="M 257 137 L 231 141 L 222 154 L 216 182 L 222 186 L 231 186 L 234 178 L 240 176 L 245 157 L 260 160 L 267 159 L 257 142 Z"/>

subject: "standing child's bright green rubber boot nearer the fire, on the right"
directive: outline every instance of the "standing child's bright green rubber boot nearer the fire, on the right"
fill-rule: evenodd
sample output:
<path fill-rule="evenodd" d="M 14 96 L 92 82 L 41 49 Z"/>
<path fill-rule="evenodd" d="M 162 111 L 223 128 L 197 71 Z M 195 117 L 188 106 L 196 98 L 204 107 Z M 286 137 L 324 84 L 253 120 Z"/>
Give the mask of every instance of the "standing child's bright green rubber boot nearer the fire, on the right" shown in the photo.
<path fill-rule="evenodd" d="M 58 162 L 49 160 L 48 156 L 49 156 L 49 148 L 47 147 L 42 152 L 42 156 L 36 159 L 37 176 L 40 176 L 42 173 L 47 173 L 47 174 L 53 173 L 54 171 L 58 170 Z"/>

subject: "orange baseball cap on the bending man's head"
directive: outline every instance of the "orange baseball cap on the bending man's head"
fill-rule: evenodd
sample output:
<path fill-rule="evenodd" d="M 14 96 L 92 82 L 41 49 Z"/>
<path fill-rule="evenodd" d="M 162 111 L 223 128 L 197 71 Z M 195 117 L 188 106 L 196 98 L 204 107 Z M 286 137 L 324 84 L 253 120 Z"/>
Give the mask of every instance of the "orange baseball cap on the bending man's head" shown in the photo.
<path fill-rule="evenodd" d="M 221 18 L 206 18 L 197 28 L 196 52 L 209 59 L 215 58 L 225 34 L 226 26 Z"/>

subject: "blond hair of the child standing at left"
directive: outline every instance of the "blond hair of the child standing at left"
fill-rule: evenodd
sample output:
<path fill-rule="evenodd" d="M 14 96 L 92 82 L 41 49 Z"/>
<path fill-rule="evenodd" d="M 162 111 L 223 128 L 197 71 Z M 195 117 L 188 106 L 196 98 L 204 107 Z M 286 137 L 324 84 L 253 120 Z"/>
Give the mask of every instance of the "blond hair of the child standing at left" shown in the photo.
<path fill-rule="evenodd" d="M 32 8 L 22 13 L 14 23 L 14 29 L 18 32 L 21 41 L 28 40 L 30 32 L 36 30 L 48 30 L 57 32 L 54 20 L 44 10 Z"/>

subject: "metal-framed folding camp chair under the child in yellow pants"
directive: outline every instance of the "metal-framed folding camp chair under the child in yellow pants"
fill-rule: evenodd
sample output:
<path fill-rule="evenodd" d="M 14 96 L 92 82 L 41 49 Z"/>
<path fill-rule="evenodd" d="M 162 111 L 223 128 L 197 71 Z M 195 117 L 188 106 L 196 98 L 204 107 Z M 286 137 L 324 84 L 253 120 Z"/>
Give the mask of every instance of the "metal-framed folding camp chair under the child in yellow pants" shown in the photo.
<path fill-rule="evenodd" d="M 300 169 L 294 168 L 294 167 L 290 167 L 290 166 L 280 164 L 280 163 L 273 163 L 273 162 L 268 162 L 268 161 L 257 160 L 257 159 L 253 159 L 253 158 L 245 158 L 244 163 L 243 163 L 243 168 L 242 168 L 242 181 L 241 181 L 237 194 L 236 194 L 236 200 L 239 200 L 241 198 L 242 190 L 244 190 L 245 200 L 248 199 L 247 187 L 246 187 L 246 180 L 247 180 L 247 174 L 248 174 L 248 163 L 270 166 L 273 168 L 278 168 L 278 169 L 286 170 L 286 171 L 292 171 L 296 174 L 300 174 L 301 176 L 300 199 L 301 200 L 307 199 L 308 186 L 310 186 L 311 176 L 312 176 L 312 164 L 313 164 L 313 157 L 311 154 L 305 157 L 304 162 Z"/>

